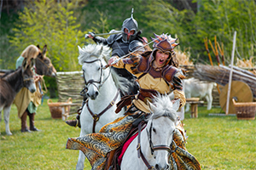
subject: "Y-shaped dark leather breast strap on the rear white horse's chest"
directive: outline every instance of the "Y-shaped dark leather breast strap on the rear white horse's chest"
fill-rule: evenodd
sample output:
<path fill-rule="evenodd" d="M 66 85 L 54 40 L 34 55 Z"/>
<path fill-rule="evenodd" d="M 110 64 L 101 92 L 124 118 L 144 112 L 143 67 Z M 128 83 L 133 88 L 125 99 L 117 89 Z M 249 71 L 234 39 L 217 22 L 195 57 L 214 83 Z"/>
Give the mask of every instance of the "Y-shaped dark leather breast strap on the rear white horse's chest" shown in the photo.
<path fill-rule="evenodd" d="M 87 109 L 88 109 L 88 111 L 90 112 L 90 115 L 91 115 L 92 118 L 93 118 L 92 133 L 95 133 L 96 122 L 99 121 L 100 116 L 102 116 L 106 111 L 108 111 L 109 108 L 111 108 L 111 107 L 114 105 L 115 100 L 118 98 L 118 96 L 119 96 L 119 90 L 118 90 L 117 93 L 115 94 L 114 99 L 113 99 L 113 100 L 109 103 L 109 105 L 108 105 L 102 112 L 100 112 L 99 114 L 93 113 L 93 112 L 90 110 L 90 107 L 89 107 L 89 105 L 88 105 L 88 103 L 89 103 L 88 101 L 89 101 L 89 100 L 86 101 Z"/>

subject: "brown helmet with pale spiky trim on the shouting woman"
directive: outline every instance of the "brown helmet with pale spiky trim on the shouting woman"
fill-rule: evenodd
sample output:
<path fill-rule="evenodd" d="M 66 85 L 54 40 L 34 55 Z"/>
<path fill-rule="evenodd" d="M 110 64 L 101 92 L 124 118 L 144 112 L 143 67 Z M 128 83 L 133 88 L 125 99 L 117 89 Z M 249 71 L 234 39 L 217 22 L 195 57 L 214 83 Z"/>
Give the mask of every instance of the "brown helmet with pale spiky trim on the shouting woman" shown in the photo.
<path fill-rule="evenodd" d="M 154 33 L 154 37 L 150 37 L 152 41 L 154 41 L 153 44 L 153 52 L 151 54 L 152 61 L 154 60 L 154 54 L 157 49 L 161 50 L 162 52 L 170 53 L 169 58 L 166 60 L 166 65 L 169 63 L 172 55 L 175 55 L 174 48 L 179 45 L 179 43 L 176 43 L 177 38 L 172 38 L 171 35 L 167 35 L 162 33 L 160 36 Z"/>

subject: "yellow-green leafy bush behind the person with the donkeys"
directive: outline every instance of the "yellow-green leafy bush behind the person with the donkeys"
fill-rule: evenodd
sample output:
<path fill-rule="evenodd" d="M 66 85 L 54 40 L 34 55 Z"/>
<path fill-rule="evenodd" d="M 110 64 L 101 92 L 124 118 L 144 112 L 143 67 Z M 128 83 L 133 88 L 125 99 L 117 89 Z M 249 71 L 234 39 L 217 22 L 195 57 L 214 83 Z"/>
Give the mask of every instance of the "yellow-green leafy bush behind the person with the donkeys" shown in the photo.
<path fill-rule="evenodd" d="M 11 44 L 20 51 L 29 44 L 47 44 L 48 57 L 57 71 L 78 70 L 77 46 L 82 43 L 84 32 L 73 17 L 73 2 L 44 0 L 36 1 L 33 8 L 24 8 L 13 29 L 15 36 L 10 36 Z"/>

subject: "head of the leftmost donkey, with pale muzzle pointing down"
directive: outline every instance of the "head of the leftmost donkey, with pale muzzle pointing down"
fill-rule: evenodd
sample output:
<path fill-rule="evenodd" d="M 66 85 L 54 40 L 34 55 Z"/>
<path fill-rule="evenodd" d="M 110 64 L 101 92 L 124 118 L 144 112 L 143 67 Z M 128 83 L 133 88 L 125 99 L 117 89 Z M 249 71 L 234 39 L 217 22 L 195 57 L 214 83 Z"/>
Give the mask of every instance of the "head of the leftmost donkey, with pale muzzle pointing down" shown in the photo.
<path fill-rule="evenodd" d="M 36 91 L 36 85 L 34 82 L 34 74 L 32 72 L 32 66 L 34 65 L 34 59 L 31 59 L 29 63 L 26 58 L 21 65 L 21 72 L 23 77 L 23 87 L 27 88 L 31 93 Z"/>

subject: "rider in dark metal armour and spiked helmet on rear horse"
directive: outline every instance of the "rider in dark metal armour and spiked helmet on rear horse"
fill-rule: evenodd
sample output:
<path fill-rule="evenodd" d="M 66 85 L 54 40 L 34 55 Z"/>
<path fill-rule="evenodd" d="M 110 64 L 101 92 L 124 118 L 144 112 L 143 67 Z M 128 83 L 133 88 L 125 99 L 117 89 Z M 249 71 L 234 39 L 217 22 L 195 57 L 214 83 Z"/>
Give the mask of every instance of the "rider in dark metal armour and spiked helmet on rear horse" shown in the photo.
<path fill-rule="evenodd" d="M 131 18 L 124 20 L 121 33 L 113 34 L 108 38 L 96 37 L 94 33 L 89 32 L 85 35 L 85 37 L 90 37 L 96 43 L 102 43 L 104 45 L 108 45 L 108 47 L 112 48 L 112 57 L 122 57 L 126 54 L 137 50 L 137 54 L 143 53 L 146 50 L 150 50 L 150 48 L 146 45 L 147 38 L 140 37 L 142 31 L 138 31 L 137 20 L 133 19 L 133 8 L 131 10 Z M 119 31 L 110 31 L 110 33 L 119 32 Z M 144 47 L 143 47 L 144 46 Z M 113 70 L 116 71 L 119 76 L 127 78 L 128 81 L 133 83 L 133 87 L 131 87 L 130 94 L 137 94 L 137 82 L 135 81 L 137 78 L 134 77 L 129 71 L 126 71 L 124 68 L 115 68 Z M 126 94 L 122 94 L 124 96 Z M 84 102 L 82 104 L 82 108 L 84 106 L 86 96 L 84 96 Z M 81 111 L 81 109 L 80 109 Z M 79 113 L 80 114 L 80 113 Z M 76 116 L 75 120 L 67 120 L 66 123 L 72 127 L 80 127 L 80 115 Z"/>

